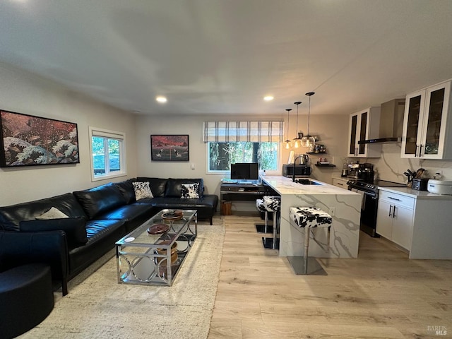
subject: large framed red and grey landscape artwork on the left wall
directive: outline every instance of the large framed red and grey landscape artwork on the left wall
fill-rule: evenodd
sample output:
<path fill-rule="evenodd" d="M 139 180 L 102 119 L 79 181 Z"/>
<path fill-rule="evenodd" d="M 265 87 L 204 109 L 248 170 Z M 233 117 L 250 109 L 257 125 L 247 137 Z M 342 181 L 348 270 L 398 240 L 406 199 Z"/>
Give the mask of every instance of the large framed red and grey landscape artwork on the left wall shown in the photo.
<path fill-rule="evenodd" d="M 77 124 L 0 110 L 0 167 L 79 162 Z"/>

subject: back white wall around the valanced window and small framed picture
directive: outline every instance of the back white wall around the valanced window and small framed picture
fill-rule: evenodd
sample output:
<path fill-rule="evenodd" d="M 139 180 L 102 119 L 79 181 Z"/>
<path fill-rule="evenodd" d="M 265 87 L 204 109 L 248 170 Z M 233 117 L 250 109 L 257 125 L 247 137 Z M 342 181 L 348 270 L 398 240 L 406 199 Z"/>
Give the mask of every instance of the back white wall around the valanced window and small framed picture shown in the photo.
<path fill-rule="evenodd" d="M 228 116 L 227 120 L 250 121 L 256 119 L 284 119 L 281 115 L 274 116 Z M 285 117 L 287 118 L 287 116 Z M 197 115 L 197 116 L 165 116 L 165 117 L 145 117 L 139 116 L 136 120 L 137 144 L 140 147 L 138 157 L 138 175 L 143 177 L 176 177 L 176 178 L 203 178 L 206 191 L 209 194 L 220 196 L 220 180 L 222 175 L 206 174 L 206 144 L 203 143 L 203 121 L 222 120 L 225 117 L 218 115 Z M 292 121 L 292 117 L 290 121 Z M 307 126 L 307 117 L 299 117 L 299 130 L 304 131 L 302 126 Z M 311 134 L 316 134 L 320 142 L 326 145 L 328 160 L 338 160 L 345 157 L 347 146 L 348 116 L 319 116 L 312 117 L 310 121 Z M 287 131 L 287 129 L 286 129 Z M 150 135 L 151 134 L 189 134 L 189 162 L 159 162 L 150 160 Z M 287 133 L 285 133 L 287 134 Z M 290 124 L 290 139 L 295 138 L 296 126 Z M 285 135 L 285 137 L 287 137 Z M 302 148 L 300 153 L 305 153 L 306 148 Z M 297 152 L 297 154 L 299 154 Z M 289 151 L 283 150 L 280 163 L 287 163 Z M 311 157 L 313 162 L 318 160 L 316 155 Z M 191 169 L 191 164 L 195 169 Z M 339 167 L 342 168 L 342 167 Z M 324 182 L 331 182 L 331 168 L 314 167 L 313 177 Z M 251 208 L 254 208 L 251 206 Z M 254 208 L 255 209 L 255 208 Z"/>

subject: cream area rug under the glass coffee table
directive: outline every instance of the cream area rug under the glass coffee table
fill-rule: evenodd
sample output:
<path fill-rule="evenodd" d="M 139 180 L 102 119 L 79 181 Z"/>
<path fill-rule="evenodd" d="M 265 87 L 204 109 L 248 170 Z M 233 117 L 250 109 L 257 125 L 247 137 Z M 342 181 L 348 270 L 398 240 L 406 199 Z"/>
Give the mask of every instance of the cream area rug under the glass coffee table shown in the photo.
<path fill-rule="evenodd" d="M 207 338 L 225 237 L 222 220 L 214 223 L 198 225 L 171 287 L 118 284 L 110 252 L 100 268 L 76 277 L 82 281 L 71 280 L 47 319 L 19 338 Z"/>

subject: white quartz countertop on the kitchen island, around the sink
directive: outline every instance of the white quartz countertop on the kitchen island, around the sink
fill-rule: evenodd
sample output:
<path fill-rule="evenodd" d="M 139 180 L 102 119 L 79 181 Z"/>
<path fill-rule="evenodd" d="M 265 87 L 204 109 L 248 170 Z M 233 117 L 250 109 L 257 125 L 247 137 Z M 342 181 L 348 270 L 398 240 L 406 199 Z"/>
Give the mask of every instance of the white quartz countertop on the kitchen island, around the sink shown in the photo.
<path fill-rule="evenodd" d="M 320 185 L 303 185 L 292 182 L 291 178 L 283 177 L 282 175 L 268 175 L 262 177 L 263 182 L 266 182 L 279 194 L 340 194 L 343 196 L 350 196 L 357 194 L 347 189 L 342 189 L 319 180 L 309 179 L 312 182 L 318 182 Z"/>

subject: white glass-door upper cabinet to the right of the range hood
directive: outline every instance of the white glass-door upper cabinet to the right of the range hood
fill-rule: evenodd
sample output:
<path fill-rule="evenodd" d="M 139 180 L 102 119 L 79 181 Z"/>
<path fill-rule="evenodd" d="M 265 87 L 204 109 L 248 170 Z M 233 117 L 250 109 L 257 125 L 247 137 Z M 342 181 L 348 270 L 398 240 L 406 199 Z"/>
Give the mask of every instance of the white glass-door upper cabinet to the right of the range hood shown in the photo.
<path fill-rule="evenodd" d="M 451 82 L 407 95 L 401 157 L 452 159 Z"/>

